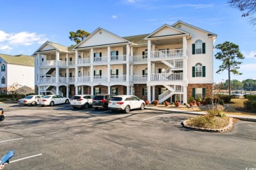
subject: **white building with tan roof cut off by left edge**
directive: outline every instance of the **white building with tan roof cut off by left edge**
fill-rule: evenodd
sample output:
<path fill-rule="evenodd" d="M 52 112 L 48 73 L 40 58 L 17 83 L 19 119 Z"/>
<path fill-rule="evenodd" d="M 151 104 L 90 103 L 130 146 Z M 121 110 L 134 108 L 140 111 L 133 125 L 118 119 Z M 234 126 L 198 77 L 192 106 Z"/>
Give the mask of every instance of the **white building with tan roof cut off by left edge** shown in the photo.
<path fill-rule="evenodd" d="M 14 82 L 24 87 L 26 93 L 35 92 L 35 68 L 32 56 L 10 56 L 0 54 L 1 84 L 0 92 L 7 93 L 7 88 Z"/>

